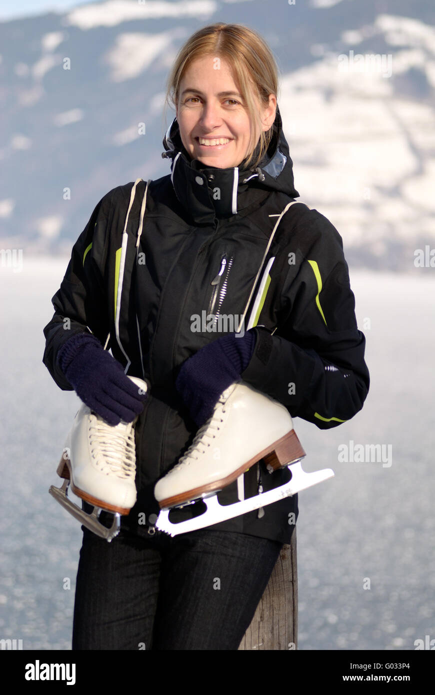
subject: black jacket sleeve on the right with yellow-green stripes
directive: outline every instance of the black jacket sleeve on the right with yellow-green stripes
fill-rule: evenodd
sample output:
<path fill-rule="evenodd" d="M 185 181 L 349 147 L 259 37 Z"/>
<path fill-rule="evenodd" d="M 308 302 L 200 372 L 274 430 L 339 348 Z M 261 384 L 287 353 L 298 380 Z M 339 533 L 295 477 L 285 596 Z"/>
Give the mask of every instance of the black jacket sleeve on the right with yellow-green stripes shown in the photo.
<path fill-rule="evenodd" d="M 310 220 L 311 241 L 286 273 L 277 329 L 254 329 L 256 349 L 241 376 L 292 417 L 328 429 L 361 410 L 370 377 L 342 239 L 317 211 Z"/>

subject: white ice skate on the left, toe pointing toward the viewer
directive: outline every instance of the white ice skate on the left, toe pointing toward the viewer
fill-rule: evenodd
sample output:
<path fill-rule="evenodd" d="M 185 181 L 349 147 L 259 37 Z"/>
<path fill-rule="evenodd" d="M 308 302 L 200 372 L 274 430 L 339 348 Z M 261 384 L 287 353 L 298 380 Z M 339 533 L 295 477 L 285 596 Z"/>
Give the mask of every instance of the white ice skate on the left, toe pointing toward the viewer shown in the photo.
<path fill-rule="evenodd" d="M 129 376 L 129 375 L 127 375 Z M 131 377 L 146 392 L 149 384 Z M 64 478 L 63 486 L 51 485 L 49 493 L 78 521 L 92 532 L 111 541 L 120 531 L 120 516 L 129 514 L 136 502 L 136 448 L 133 422 L 108 425 L 84 403 L 77 412 L 67 435 L 57 473 Z M 87 514 L 67 496 L 72 492 L 94 509 Z M 110 512 L 113 523 L 106 528 L 99 514 Z"/>

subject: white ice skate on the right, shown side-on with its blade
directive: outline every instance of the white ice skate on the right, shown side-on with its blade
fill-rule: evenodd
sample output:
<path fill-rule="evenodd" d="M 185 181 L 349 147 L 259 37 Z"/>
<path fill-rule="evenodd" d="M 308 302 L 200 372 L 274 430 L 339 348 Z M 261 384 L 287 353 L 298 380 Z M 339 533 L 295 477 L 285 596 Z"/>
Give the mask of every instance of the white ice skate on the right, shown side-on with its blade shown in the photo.
<path fill-rule="evenodd" d="M 334 476 L 331 468 L 305 473 L 300 464 L 305 455 L 286 407 L 242 380 L 234 382 L 222 393 L 186 454 L 156 483 L 154 496 L 161 507 L 156 528 L 171 536 L 204 528 Z M 220 505 L 217 492 L 234 480 L 243 480 L 243 473 L 260 459 L 270 473 L 288 466 L 291 480 L 246 500 L 238 486 L 240 501 Z M 170 509 L 200 498 L 207 507 L 204 514 L 179 523 L 170 521 Z"/>

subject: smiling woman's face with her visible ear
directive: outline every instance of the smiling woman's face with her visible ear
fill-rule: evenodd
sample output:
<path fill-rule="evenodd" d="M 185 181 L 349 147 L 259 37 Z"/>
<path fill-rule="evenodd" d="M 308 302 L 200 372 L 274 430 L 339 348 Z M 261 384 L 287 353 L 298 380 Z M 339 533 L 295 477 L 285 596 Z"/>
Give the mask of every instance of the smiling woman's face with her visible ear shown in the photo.
<path fill-rule="evenodd" d="M 258 105 L 263 131 L 272 126 L 276 108 L 274 95 L 268 107 Z M 190 63 L 180 83 L 176 111 L 181 140 L 192 159 L 226 169 L 238 166 L 247 156 L 249 114 L 224 58 L 206 56 Z M 255 142 L 259 137 L 258 132 Z M 220 144 L 217 138 L 225 141 Z"/>

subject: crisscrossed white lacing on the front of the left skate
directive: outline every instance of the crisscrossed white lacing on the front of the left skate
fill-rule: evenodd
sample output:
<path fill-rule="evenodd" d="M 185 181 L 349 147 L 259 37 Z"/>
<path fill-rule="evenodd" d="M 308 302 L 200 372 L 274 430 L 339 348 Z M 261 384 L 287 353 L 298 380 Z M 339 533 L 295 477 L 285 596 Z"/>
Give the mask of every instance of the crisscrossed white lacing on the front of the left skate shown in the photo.
<path fill-rule="evenodd" d="M 122 478 L 136 473 L 133 423 L 121 422 L 113 426 L 92 415 L 89 432 L 91 453 L 97 450 L 99 463 L 104 464 L 104 468 Z"/>

